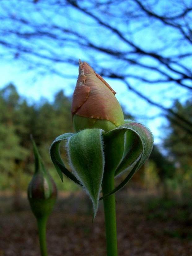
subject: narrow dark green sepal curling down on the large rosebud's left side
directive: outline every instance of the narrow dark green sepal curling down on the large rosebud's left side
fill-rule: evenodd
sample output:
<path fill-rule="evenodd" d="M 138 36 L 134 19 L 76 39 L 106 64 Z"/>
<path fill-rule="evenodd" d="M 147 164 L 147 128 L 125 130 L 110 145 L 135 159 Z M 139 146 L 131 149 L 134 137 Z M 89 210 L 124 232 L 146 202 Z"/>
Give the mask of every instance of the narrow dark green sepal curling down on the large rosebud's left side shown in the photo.
<path fill-rule="evenodd" d="M 64 165 L 63 160 L 60 156 L 60 151 L 59 151 L 60 143 L 62 141 L 67 142 L 67 140 L 72 136 L 74 136 L 73 133 L 65 133 L 57 137 L 50 146 L 50 157 L 62 182 L 63 182 L 63 174 L 65 174 L 69 179 L 81 185 L 79 180 L 76 179 L 76 177 Z"/>

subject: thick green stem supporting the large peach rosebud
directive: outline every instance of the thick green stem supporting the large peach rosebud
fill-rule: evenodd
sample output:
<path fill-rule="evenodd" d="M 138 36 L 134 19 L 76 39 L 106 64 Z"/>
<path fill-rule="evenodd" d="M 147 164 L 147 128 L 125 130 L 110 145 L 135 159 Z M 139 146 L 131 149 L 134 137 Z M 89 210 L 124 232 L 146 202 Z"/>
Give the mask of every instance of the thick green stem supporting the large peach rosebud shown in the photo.
<path fill-rule="evenodd" d="M 102 181 L 103 195 L 114 189 L 114 175 L 104 172 Z M 103 199 L 105 212 L 105 232 L 107 243 L 107 256 L 117 256 L 117 229 L 116 229 L 116 208 L 115 195 Z"/>

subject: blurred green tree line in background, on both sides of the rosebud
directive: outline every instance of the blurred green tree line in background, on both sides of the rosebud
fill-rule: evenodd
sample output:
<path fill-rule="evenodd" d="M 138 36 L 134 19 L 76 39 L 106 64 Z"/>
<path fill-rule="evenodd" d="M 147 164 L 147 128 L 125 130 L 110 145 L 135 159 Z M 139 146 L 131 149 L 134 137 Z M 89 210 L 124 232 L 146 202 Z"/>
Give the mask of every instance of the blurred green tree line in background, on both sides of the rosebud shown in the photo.
<path fill-rule="evenodd" d="M 176 101 L 174 112 L 192 121 L 191 103 L 188 100 L 182 105 Z M 129 114 L 125 117 L 133 119 Z M 133 183 L 146 189 L 163 185 L 165 194 L 168 188 L 178 185 L 192 188 L 192 136 L 177 124 L 175 117 L 170 116 L 168 120 L 164 153 L 155 145 L 149 161 L 133 177 Z M 0 90 L 0 190 L 27 188 L 34 170 L 31 134 L 46 166 L 59 180 L 50 161 L 49 147 L 57 136 L 67 132 L 73 132 L 71 99 L 63 90 L 55 95 L 52 103 L 43 99 L 33 104 L 23 99 L 13 84 Z M 59 184 L 62 188 L 63 184 Z"/>

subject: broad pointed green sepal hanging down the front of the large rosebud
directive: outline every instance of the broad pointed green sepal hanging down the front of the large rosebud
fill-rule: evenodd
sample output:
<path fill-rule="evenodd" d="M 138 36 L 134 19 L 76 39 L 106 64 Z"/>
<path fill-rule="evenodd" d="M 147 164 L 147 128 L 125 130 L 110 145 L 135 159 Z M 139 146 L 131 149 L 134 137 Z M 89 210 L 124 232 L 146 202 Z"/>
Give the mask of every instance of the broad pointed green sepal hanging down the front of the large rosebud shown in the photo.
<path fill-rule="evenodd" d="M 102 134 L 101 129 L 81 130 L 69 137 L 67 145 L 72 171 L 92 200 L 93 219 L 98 209 L 105 166 Z"/>

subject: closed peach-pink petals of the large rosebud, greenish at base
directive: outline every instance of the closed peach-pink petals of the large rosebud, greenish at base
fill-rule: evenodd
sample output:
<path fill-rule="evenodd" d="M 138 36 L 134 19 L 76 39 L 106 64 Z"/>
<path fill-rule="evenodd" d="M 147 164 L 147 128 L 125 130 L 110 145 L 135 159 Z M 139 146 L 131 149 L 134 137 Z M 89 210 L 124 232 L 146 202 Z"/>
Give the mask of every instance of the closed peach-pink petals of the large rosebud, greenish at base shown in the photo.
<path fill-rule="evenodd" d="M 79 60 L 79 76 L 71 108 L 76 132 L 87 128 L 109 131 L 123 125 L 123 111 L 115 94 L 89 64 Z"/>

